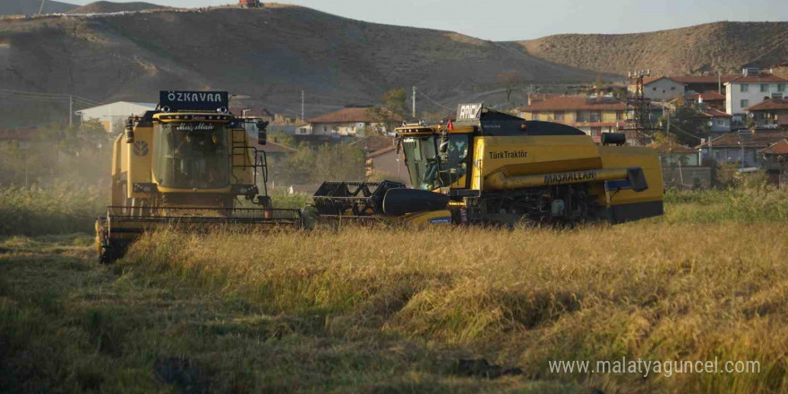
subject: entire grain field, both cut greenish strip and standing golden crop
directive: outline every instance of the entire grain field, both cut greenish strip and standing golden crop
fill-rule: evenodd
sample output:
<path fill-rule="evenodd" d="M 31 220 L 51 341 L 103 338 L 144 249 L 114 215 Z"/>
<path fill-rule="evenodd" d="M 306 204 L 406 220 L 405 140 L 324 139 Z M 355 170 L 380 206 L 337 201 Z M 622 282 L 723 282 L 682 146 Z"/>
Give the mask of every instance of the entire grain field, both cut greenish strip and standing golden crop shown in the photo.
<path fill-rule="evenodd" d="M 0 392 L 785 392 L 785 192 L 666 201 L 566 230 L 162 231 L 110 267 L 90 236 L 0 240 Z M 622 356 L 760 373 L 548 367 Z M 482 358 L 522 374 L 458 368 Z"/>

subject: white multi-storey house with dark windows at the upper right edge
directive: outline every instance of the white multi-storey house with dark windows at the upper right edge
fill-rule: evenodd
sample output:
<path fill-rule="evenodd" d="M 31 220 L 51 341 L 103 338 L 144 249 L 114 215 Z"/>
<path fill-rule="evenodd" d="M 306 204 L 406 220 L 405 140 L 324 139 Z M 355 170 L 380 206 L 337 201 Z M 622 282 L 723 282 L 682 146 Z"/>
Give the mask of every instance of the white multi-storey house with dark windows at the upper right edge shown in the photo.
<path fill-rule="evenodd" d="M 788 80 L 746 68 L 741 76 L 726 82 L 725 86 L 725 112 L 733 116 L 735 124 L 743 121 L 744 108 L 771 98 L 773 94 L 783 96 L 788 89 Z"/>

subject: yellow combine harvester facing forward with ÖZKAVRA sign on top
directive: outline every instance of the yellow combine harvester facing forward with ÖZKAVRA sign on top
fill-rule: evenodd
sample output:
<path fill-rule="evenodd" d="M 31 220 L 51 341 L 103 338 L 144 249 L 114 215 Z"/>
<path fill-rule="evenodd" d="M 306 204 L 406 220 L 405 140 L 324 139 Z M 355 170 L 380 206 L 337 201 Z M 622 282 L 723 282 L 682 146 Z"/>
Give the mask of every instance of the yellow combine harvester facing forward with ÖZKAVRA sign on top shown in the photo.
<path fill-rule="evenodd" d="M 300 210 L 271 208 L 265 151 L 250 142 L 265 144 L 267 123 L 227 104 L 227 92 L 162 91 L 156 110 L 128 118 L 113 146 L 111 205 L 96 221 L 99 261 L 162 226 L 302 226 Z M 240 208 L 240 197 L 259 208 Z"/>

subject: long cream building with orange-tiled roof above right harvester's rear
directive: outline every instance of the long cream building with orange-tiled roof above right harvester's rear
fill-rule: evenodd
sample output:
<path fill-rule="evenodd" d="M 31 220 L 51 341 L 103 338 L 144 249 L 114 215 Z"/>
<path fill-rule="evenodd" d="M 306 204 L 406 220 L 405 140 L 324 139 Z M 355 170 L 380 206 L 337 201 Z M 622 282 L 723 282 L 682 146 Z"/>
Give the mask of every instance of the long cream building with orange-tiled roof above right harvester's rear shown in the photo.
<path fill-rule="evenodd" d="M 592 137 L 617 131 L 626 113 L 626 103 L 610 97 L 554 96 L 519 108 L 523 119 L 567 124 Z"/>

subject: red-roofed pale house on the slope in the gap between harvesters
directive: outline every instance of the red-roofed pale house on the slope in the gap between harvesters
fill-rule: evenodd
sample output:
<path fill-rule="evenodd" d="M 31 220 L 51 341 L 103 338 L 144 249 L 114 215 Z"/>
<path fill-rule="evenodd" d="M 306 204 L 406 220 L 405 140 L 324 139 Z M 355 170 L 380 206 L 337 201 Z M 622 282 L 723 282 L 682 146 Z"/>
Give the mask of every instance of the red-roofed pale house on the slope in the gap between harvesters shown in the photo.
<path fill-rule="evenodd" d="M 308 119 L 312 135 L 323 135 L 331 137 L 345 136 L 364 136 L 364 131 L 374 128 L 381 133 L 389 133 L 394 124 L 401 124 L 402 118 L 394 115 L 386 108 L 381 112 L 390 122 L 382 122 L 380 118 L 374 116 L 372 107 L 344 107 L 336 112 L 313 117 Z"/>

